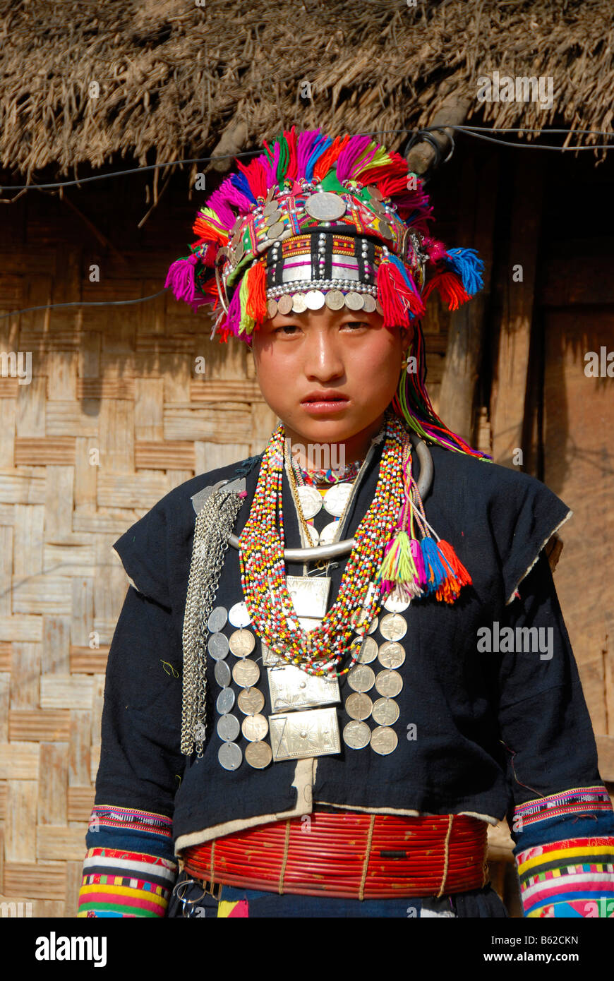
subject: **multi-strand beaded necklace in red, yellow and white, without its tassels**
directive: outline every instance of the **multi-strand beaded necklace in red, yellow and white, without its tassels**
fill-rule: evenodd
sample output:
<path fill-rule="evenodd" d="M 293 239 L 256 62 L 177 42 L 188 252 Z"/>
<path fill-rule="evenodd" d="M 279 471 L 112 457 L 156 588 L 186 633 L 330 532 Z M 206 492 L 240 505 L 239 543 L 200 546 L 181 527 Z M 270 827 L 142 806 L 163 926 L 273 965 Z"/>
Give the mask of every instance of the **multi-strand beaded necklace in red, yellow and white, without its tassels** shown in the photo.
<path fill-rule="evenodd" d="M 298 627 L 283 566 L 281 481 L 284 428 L 280 424 L 264 452 L 249 518 L 239 538 L 241 586 L 258 634 L 284 660 L 308 674 L 339 677 L 356 663 L 359 639 L 380 611 L 378 590 L 370 589 L 384 557 L 405 496 L 404 468 L 411 467 L 411 441 L 394 416 L 386 419 L 385 442 L 374 499 L 354 535 L 352 549 L 333 607 L 310 632 Z M 360 623 L 353 626 L 355 614 Z M 349 652 L 350 662 L 335 670 Z"/>

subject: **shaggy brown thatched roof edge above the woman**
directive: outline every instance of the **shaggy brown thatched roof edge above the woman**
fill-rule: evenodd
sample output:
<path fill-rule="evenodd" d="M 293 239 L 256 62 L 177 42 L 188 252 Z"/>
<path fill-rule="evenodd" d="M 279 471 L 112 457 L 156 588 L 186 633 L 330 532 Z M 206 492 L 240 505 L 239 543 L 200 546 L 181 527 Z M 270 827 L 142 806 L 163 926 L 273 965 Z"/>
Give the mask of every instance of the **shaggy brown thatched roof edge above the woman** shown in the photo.
<path fill-rule="evenodd" d="M 446 100 L 498 127 L 611 129 L 609 0 L 204 4 L 0 0 L 0 166 L 73 175 L 116 153 L 145 164 L 234 152 L 293 122 L 402 129 Z M 494 71 L 552 77 L 552 108 L 478 102 L 478 77 Z"/>

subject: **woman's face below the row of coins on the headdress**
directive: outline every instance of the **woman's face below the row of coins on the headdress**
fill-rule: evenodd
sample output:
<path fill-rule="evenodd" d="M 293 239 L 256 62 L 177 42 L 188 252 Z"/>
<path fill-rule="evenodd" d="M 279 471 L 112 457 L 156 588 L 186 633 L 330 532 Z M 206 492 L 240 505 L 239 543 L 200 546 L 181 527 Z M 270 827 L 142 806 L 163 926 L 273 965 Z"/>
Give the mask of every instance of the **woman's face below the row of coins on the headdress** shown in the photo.
<path fill-rule="evenodd" d="M 342 442 L 382 419 L 409 341 L 383 323 L 378 313 L 325 306 L 278 313 L 254 332 L 258 383 L 288 433 Z"/>

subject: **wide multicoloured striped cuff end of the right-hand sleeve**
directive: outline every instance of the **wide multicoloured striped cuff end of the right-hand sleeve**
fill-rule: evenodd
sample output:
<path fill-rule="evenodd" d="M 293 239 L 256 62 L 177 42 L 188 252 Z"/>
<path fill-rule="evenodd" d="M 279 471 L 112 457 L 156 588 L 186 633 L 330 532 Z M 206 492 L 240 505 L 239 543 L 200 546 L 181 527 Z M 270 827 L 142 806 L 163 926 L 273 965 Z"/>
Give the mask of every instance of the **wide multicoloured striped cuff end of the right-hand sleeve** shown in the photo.
<path fill-rule="evenodd" d="M 525 916 L 614 916 L 614 838 L 570 838 L 516 855 Z"/>

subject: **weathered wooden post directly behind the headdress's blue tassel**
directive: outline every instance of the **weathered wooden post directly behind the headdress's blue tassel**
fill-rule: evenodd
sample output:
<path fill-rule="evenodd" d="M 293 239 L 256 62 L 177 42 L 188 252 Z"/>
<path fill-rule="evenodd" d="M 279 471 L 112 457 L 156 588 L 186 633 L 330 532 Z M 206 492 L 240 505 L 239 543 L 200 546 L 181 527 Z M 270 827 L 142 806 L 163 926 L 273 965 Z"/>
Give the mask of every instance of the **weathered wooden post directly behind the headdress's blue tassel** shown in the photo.
<path fill-rule="evenodd" d="M 458 244 L 478 250 L 484 260 L 484 289 L 450 319 L 438 414 L 445 425 L 475 444 L 473 409 L 484 347 L 485 316 L 492 271 L 492 239 L 498 177 L 498 156 L 468 157 L 461 181 Z"/>

